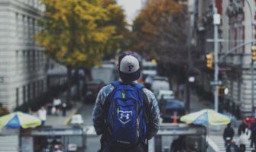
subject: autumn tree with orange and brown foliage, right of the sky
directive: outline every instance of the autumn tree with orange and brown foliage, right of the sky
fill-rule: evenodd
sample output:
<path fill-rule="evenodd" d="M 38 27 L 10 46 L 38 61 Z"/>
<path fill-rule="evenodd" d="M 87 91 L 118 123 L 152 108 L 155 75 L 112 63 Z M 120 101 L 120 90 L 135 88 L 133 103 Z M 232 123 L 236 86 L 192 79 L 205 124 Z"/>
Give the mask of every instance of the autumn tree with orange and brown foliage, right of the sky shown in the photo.
<path fill-rule="evenodd" d="M 186 9 L 174 0 L 157 0 L 135 18 L 135 50 L 158 59 L 160 74 L 184 80 L 187 63 Z"/>

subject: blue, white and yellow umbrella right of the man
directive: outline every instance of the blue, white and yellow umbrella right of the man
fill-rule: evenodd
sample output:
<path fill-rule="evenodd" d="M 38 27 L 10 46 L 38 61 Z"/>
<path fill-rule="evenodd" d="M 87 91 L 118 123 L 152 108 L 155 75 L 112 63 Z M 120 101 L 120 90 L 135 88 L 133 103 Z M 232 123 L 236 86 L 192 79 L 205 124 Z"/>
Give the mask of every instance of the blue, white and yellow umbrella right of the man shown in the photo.
<path fill-rule="evenodd" d="M 182 122 L 196 125 L 226 125 L 231 119 L 228 116 L 215 112 L 213 109 L 202 109 L 180 118 Z"/>

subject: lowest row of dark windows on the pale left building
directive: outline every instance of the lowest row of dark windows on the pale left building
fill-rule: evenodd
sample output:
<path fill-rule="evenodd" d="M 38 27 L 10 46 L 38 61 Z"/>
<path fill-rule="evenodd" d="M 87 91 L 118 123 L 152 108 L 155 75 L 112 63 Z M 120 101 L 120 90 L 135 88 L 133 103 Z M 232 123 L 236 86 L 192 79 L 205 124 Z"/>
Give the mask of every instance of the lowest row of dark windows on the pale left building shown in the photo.
<path fill-rule="evenodd" d="M 44 93 L 45 83 L 44 80 L 34 81 L 23 87 L 16 88 L 16 106 L 34 100 L 39 94 Z M 22 98 L 20 93 L 22 90 Z M 20 101 L 22 99 L 22 101 Z"/>

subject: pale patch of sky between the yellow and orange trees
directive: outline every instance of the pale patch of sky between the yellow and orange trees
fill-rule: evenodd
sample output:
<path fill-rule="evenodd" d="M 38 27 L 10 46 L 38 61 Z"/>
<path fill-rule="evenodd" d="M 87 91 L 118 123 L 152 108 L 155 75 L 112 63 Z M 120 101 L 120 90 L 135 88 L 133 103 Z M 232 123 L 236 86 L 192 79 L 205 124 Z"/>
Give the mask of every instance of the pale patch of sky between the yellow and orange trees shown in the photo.
<path fill-rule="evenodd" d="M 117 0 L 118 5 L 121 5 L 125 10 L 128 24 L 132 24 L 134 17 L 136 17 L 138 11 L 141 9 L 141 1 L 142 0 Z"/>

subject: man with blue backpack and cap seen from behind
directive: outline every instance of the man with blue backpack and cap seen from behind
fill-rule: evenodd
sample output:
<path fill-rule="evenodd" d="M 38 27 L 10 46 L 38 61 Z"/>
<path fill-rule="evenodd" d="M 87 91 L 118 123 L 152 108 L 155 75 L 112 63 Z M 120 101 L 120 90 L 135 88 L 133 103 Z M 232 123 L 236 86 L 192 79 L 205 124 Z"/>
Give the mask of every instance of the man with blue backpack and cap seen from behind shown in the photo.
<path fill-rule="evenodd" d="M 147 141 L 159 129 L 159 107 L 154 94 L 136 80 L 141 68 L 134 52 L 118 57 L 120 81 L 99 91 L 92 121 L 104 152 L 147 152 Z"/>

